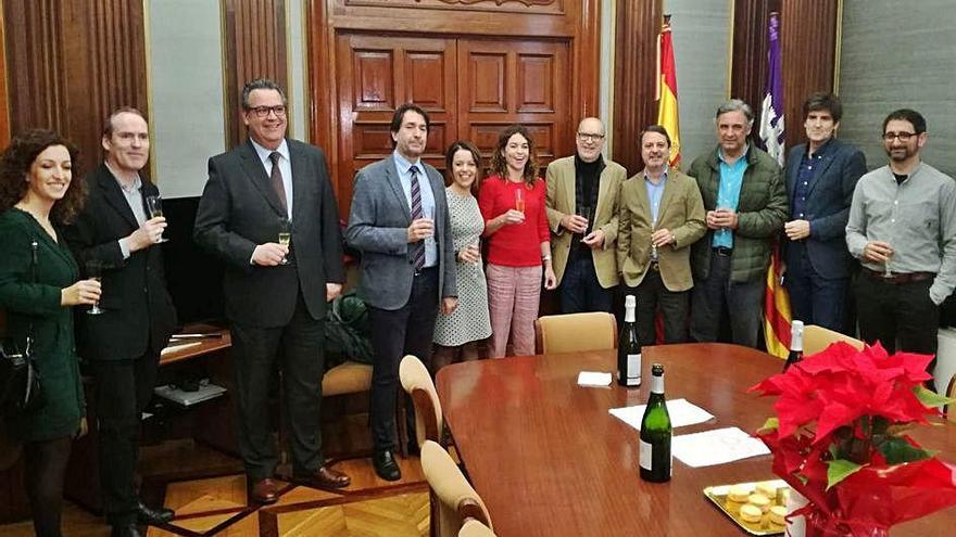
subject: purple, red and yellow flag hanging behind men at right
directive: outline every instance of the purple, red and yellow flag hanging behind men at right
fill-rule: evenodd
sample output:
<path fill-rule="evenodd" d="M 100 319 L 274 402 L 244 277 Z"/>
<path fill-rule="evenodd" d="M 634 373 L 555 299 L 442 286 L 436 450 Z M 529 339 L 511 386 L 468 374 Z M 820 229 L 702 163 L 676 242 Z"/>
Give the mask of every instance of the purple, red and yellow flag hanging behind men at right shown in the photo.
<path fill-rule="evenodd" d="M 783 166 L 783 73 L 780 59 L 780 21 L 770 13 L 770 50 L 767 52 L 767 92 L 760 110 L 760 140 L 767 153 Z M 771 246 L 770 267 L 767 269 L 767 287 L 764 295 L 764 340 L 767 351 L 787 358 L 790 350 L 790 297 L 780 283 L 780 248 Z"/>

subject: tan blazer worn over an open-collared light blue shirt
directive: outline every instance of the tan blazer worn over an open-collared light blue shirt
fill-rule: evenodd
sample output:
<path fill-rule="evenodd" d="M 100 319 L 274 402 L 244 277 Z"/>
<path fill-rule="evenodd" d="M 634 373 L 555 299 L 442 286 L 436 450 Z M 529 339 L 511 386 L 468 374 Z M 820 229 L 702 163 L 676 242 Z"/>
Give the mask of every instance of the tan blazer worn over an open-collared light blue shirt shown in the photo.
<path fill-rule="evenodd" d="M 674 242 L 657 248 L 661 279 L 668 291 L 687 291 L 691 277 L 691 244 L 704 236 L 704 202 L 693 178 L 676 169 L 667 171 L 656 229 L 674 233 Z M 618 212 L 617 264 L 626 285 L 634 287 L 651 265 L 651 201 L 643 170 L 620 188 Z"/>

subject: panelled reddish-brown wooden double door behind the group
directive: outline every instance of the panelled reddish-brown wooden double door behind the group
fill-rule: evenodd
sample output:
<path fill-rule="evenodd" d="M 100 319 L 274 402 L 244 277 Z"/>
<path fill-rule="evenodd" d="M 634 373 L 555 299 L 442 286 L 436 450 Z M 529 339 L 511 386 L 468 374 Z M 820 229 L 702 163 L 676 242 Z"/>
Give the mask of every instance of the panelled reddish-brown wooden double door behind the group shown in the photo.
<path fill-rule="evenodd" d="M 392 152 L 389 125 L 405 102 L 430 116 L 424 158 L 439 170 L 458 139 L 475 143 L 487 165 L 499 132 L 516 123 L 531 132 L 542 165 L 574 150 L 567 40 L 343 33 L 336 47 L 343 215 L 355 171 Z"/>

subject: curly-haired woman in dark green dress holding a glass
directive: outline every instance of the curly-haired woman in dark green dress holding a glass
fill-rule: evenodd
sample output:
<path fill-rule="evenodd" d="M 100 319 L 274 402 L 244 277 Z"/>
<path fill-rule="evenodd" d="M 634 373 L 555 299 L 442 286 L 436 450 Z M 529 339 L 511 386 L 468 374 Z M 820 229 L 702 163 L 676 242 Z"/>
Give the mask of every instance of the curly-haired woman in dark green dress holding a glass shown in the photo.
<path fill-rule="evenodd" d="M 38 537 L 61 535 L 66 461 L 86 426 L 71 307 L 100 296 L 99 282 L 78 281 L 56 231 L 83 205 L 83 181 L 72 181 L 75 157 L 68 141 L 39 129 L 15 137 L 0 155 L 0 308 L 9 338 L 22 345 L 32 331 L 43 394 L 42 406 L 10 424 L 24 442 L 24 486 Z"/>

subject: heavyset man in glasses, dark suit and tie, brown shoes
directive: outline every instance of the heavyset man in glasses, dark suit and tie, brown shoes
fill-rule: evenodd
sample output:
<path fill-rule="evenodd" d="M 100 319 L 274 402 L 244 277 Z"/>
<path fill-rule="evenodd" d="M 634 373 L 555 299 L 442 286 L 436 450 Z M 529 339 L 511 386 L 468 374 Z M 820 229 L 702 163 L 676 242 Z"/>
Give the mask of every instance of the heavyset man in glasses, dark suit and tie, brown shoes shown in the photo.
<path fill-rule="evenodd" d="M 196 241 L 226 263 L 239 443 L 252 500 L 278 499 L 268 395 L 278 362 L 291 430 L 292 472 L 324 488 L 349 486 L 325 464 L 318 431 L 326 302 L 342 291 L 342 238 L 322 150 L 286 138 L 286 95 L 272 80 L 242 89 L 249 141 L 209 162 Z M 289 245 L 280 233 L 290 232 Z"/>

